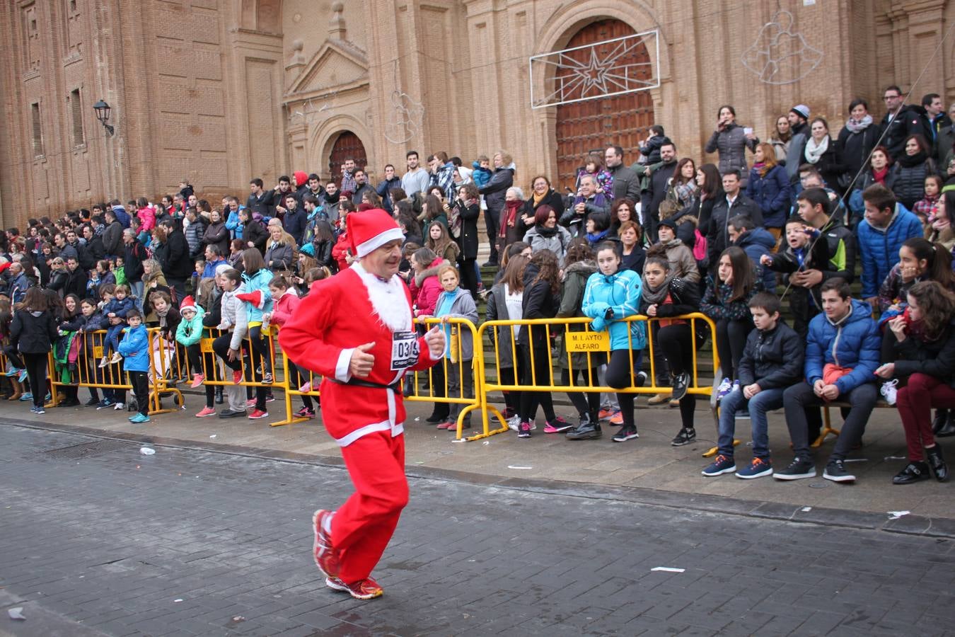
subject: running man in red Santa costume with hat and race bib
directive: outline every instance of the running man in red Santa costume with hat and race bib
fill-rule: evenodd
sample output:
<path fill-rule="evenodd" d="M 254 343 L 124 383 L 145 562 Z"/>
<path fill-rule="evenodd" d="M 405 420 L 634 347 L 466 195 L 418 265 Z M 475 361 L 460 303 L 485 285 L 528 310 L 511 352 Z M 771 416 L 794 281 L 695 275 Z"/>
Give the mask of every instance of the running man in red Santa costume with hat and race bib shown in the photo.
<path fill-rule="evenodd" d="M 441 360 L 444 332 L 418 337 L 411 294 L 397 276 L 404 236 L 386 211 L 349 215 L 357 261 L 315 282 L 279 332 L 294 363 L 321 374 L 322 418 L 342 447 L 355 492 L 312 523 L 325 583 L 359 600 L 382 594 L 371 579 L 408 503 L 400 379 Z"/>

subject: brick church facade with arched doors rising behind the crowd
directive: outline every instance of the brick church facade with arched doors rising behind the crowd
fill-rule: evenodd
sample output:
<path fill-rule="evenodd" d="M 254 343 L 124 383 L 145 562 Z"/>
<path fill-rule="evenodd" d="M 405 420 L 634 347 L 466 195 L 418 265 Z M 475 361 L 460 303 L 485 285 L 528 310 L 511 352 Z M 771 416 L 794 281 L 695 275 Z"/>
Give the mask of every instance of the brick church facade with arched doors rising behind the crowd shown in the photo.
<path fill-rule="evenodd" d="M 853 97 L 881 117 L 930 59 L 913 99 L 955 100 L 953 19 L 952 0 L 10 0 L 0 223 L 180 180 L 215 204 L 348 155 L 377 180 L 408 149 L 505 149 L 525 188 L 564 186 L 653 123 L 703 158 L 723 103 L 761 138 L 808 104 L 835 136 Z"/>

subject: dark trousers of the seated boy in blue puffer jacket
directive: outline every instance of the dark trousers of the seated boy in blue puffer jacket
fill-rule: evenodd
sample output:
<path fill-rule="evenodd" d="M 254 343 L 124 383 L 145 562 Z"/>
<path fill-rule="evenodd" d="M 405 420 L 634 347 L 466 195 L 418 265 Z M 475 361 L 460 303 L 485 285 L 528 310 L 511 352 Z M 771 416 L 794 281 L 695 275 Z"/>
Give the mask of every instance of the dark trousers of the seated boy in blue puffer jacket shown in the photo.
<path fill-rule="evenodd" d="M 879 397 L 879 388 L 875 383 L 865 383 L 849 393 L 840 394 L 839 401 L 847 401 L 852 405 L 845 416 L 842 430 L 836 438 L 836 448 L 833 449 L 832 459 L 843 460 L 859 444 L 862 434 L 865 433 L 865 423 L 876 406 Z M 813 387 L 807 383 L 796 383 L 787 388 L 782 397 L 783 407 L 786 410 L 786 425 L 789 427 L 789 437 L 793 441 L 793 453 L 796 457 L 810 457 L 809 454 L 809 423 L 806 421 L 807 407 L 822 407 L 826 401 L 816 395 Z"/>

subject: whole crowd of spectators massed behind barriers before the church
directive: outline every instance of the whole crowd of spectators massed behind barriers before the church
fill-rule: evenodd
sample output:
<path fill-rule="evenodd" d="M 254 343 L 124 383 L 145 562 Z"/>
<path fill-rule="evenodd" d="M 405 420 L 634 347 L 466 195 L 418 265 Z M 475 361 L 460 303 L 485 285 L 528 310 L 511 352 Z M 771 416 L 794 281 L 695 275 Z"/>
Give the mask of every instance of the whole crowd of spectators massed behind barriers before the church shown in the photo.
<path fill-rule="evenodd" d="M 935 438 L 955 435 L 955 105 L 946 114 L 937 95 L 911 104 L 895 86 L 883 100 L 877 122 L 854 99 L 836 137 L 826 119 L 797 104 L 766 141 L 737 123 L 732 105 L 721 106 L 705 147 L 717 160 L 701 165 L 681 158 L 655 125 L 628 165 L 616 145 L 590 154 L 566 197 L 546 176 L 520 174 L 503 150 L 469 162 L 443 151 L 422 162 L 409 151 L 403 174 L 388 164 L 377 183 L 347 159 L 327 180 L 295 172 L 266 187 L 256 178 L 246 196 L 214 203 L 183 181 L 157 202 L 114 200 L 29 219 L 0 238 L 9 397 L 32 396 L 33 411 L 43 412 L 53 350 L 53 372 L 67 380 L 62 405 L 79 404 L 69 386 L 77 373 L 102 378 L 122 366 L 136 394 L 131 420 L 148 421 L 149 357 L 178 343 L 193 387 L 220 366 L 234 381 L 220 417 L 267 416 L 273 326 L 302 296 L 320 293 L 313 282 L 353 263 L 349 215 L 384 208 L 405 235 L 399 274 L 418 318 L 477 322 L 486 304 L 487 320 L 588 317 L 590 329 L 608 332 L 600 355 L 561 350 L 557 377 L 554 329 L 492 330 L 505 383 L 640 386 L 652 339 L 656 385 L 667 389 L 647 402 L 679 408 L 672 444 L 688 444 L 696 437 L 693 355 L 710 330 L 684 317 L 702 312 L 715 324 L 722 403 L 719 451 L 704 475 L 815 476 L 819 407 L 838 401 L 844 425 L 823 476 L 852 481 L 844 460 L 881 395 L 898 405 L 908 443 L 894 481 L 944 480 Z M 495 272 L 487 287 L 478 265 L 484 242 L 485 274 Z M 626 321 L 637 315 L 652 320 Z M 142 326 L 159 328 L 159 337 L 146 339 Z M 77 351 L 93 348 L 90 334 L 100 329 L 107 335 L 95 369 L 77 372 Z M 199 349 L 203 329 L 220 330 L 214 353 Z M 469 364 L 449 366 L 447 382 L 436 373 L 435 386 L 467 396 L 481 346 L 445 329 L 457 344 L 447 355 Z M 467 372 L 451 372 L 458 367 Z M 308 370 L 292 372 L 308 391 Z M 255 385 L 245 394 L 244 379 Z M 123 406 L 120 391 L 102 393 L 91 388 L 87 405 Z M 205 394 L 199 417 L 225 400 L 222 386 L 206 385 Z M 620 427 L 615 441 L 637 437 L 633 393 L 568 397 L 576 422 L 555 412 L 549 393 L 506 393 L 509 424 L 531 437 L 540 407 L 548 434 L 592 439 L 609 421 Z M 308 395 L 303 403 L 299 415 L 314 416 Z M 454 430 L 457 409 L 435 404 L 428 420 Z M 793 447 L 791 461 L 775 469 L 766 417 L 774 409 L 785 411 Z M 733 430 L 747 414 L 753 458 L 737 469 Z"/>

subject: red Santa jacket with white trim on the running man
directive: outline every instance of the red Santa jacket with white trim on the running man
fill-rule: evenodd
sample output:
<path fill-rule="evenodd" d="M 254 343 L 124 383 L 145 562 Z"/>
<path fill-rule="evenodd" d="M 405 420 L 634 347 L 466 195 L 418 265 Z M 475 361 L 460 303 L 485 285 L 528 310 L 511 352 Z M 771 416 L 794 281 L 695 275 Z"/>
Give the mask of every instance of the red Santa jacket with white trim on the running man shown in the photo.
<path fill-rule="evenodd" d="M 414 333 L 411 305 L 408 288 L 397 276 L 382 282 L 356 264 L 312 284 L 279 331 L 288 358 L 324 376 L 322 418 L 343 447 L 374 432 L 395 436 L 404 431 L 401 392 L 343 384 L 351 379 L 355 348 L 374 343 L 371 373 L 355 380 L 381 386 L 396 383 L 406 369 L 427 370 L 440 360 L 431 358 L 424 339 Z"/>

